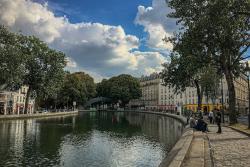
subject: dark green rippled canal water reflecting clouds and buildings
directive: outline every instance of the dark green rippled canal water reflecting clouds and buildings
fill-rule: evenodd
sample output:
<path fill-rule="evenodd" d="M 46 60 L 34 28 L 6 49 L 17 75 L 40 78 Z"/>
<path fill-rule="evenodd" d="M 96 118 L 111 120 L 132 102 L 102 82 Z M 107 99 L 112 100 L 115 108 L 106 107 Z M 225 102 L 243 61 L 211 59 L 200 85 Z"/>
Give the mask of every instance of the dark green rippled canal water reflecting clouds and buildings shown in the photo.
<path fill-rule="evenodd" d="M 182 134 L 166 116 L 86 112 L 0 122 L 0 166 L 155 167 Z"/>

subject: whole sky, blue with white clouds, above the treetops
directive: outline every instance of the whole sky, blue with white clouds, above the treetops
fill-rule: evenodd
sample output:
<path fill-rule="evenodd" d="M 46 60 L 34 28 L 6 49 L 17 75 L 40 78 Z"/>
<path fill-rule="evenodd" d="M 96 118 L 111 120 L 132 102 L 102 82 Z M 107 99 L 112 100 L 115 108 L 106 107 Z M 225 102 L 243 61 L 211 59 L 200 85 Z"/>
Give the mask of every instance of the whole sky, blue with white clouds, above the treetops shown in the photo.
<path fill-rule="evenodd" d="M 0 24 L 35 35 L 67 56 L 66 70 L 96 82 L 159 72 L 176 30 L 165 0 L 0 0 Z"/>

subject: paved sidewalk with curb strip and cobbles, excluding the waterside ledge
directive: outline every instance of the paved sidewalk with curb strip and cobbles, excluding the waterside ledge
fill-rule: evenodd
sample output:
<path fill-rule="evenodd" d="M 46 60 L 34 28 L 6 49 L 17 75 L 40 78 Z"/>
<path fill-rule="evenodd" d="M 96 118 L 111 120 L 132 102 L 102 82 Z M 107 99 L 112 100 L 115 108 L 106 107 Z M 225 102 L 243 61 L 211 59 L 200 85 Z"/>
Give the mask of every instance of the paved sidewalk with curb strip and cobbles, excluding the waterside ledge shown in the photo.
<path fill-rule="evenodd" d="M 229 127 L 209 125 L 210 132 L 194 131 L 182 167 L 250 167 L 250 138 Z"/>

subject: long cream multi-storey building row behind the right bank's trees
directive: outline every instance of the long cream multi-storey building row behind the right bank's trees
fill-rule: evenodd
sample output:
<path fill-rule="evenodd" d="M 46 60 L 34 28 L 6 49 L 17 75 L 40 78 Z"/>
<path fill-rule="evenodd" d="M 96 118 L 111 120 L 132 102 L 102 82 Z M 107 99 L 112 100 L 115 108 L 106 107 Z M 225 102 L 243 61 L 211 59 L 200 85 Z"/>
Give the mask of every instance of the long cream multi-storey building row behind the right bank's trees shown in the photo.
<path fill-rule="evenodd" d="M 247 77 L 241 75 L 235 79 L 236 109 L 245 114 L 248 108 L 248 87 Z M 177 111 L 178 108 L 197 111 L 198 98 L 195 87 L 187 87 L 184 92 L 176 94 L 170 86 L 164 86 L 159 74 L 153 73 L 150 76 L 143 76 L 140 80 L 142 90 L 142 102 L 146 109 Z M 222 106 L 228 108 L 229 93 L 225 78 L 221 80 L 220 92 L 216 99 L 203 96 L 202 110 L 211 111 L 214 108 L 220 109 Z M 222 98 L 223 97 L 223 98 Z"/>

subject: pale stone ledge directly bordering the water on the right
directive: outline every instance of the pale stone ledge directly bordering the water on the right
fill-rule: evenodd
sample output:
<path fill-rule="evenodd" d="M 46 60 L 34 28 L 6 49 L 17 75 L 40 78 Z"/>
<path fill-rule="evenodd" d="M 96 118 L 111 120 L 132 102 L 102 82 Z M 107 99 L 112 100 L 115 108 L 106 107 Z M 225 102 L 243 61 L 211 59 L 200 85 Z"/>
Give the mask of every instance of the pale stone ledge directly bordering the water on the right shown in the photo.
<path fill-rule="evenodd" d="M 159 167 L 180 167 L 188 153 L 193 140 L 193 129 L 186 128 L 181 138 L 161 162 Z"/>

